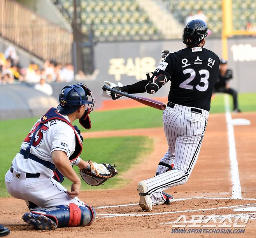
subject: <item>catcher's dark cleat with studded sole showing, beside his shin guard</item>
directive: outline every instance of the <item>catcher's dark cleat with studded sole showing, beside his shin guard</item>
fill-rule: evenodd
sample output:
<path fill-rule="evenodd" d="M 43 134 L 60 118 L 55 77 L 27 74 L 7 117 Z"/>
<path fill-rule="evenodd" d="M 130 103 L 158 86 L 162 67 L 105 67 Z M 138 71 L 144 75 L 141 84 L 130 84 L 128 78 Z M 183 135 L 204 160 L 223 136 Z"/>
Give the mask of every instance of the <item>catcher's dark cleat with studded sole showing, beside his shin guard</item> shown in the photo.
<path fill-rule="evenodd" d="M 26 212 L 22 216 L 22 219 L 28 224 L 31 224 L 33 227 L 38 228 L 40 230 L 47 231 L 55 230 L 57 228 L 57 225 L 53 220 L 41 214 Z"/>

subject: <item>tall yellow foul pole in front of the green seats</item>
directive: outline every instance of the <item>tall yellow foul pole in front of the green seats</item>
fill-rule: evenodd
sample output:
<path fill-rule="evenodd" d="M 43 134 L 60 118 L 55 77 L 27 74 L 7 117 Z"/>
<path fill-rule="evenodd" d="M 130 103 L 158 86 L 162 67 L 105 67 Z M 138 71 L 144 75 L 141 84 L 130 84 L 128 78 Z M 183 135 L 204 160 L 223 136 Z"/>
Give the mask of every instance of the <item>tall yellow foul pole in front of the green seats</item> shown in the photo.
<path fill-rule="evenodd" d="M 232 0 L 222 0 L 222 58 L 228 59 L 228 37 L 232 35 Z"/>

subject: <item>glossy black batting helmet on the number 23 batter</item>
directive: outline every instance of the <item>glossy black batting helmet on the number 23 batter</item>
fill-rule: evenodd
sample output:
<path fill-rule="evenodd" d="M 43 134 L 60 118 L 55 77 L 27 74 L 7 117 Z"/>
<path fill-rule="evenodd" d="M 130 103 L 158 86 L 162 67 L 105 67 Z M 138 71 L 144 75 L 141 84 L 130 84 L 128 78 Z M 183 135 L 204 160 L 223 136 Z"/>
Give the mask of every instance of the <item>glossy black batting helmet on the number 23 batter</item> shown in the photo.
<path fill-rule="evenodd" d="M 209 36 L 212 32 L 207 28 L 203 20 L 189 21 L 182 34 L 182 42 L 186 45 L 196 46 L 201 43 L 203 38 Z"/>

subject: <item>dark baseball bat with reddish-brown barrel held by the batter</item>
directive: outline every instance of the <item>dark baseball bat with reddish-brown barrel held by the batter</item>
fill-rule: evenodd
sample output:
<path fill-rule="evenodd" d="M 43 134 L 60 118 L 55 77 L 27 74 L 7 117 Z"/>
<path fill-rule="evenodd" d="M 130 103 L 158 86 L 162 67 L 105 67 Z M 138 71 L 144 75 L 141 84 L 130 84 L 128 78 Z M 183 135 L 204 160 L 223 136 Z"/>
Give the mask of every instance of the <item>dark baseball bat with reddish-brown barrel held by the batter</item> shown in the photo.
<path fill-rule="evenodd" d="M 133 99 L 133 100 L 135 100 L 137 102 L 140 102 L 140 103 L 142 103 L 144 105 L 147 105 L 149 107 L 154 107 L 154 108 L 159 109 L 159 110 L 165 110 L 166 109 L 166 104 L 165 103 L 158 102 L 158 101 L 150 99 L 150 98 L 144 98 L 144 97 L 135 96 L 135 95 L 132 95 L 132 94 L 129 94 L 129 93 L 124 93 L 124 92 L 115 90 L 113 88 L 109 88 L 106 85 L 104 85 L 102 87 L 102 90 L 103 91 L 111 91 L 111 92 L 114 92 L 114 93 L 118 93 L 119 95 L 131 98 L 131 99 Z"/>

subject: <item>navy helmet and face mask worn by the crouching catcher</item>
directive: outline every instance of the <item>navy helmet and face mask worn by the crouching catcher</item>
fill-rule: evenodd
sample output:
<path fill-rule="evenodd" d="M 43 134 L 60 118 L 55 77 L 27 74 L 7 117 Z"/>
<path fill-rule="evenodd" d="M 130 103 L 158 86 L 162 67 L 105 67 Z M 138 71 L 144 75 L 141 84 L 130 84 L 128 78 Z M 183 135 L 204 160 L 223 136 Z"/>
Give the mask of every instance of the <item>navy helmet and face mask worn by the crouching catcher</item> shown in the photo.
<path fill-rule="evenodd" d="M 88 100 L 88 96 L 91 97 L 91 100 Z M 79 122 L 82 127 L 91 128 L 89 114 L 93 111 L 94 99 L 91 90 L 86 85 L 77 83 L 77 85 L 65 86 L 60 92 L 59 102 L 57 112 L 66 115 L 75 112 L 81 105 L 85 105 L 86 110 Z"/>

